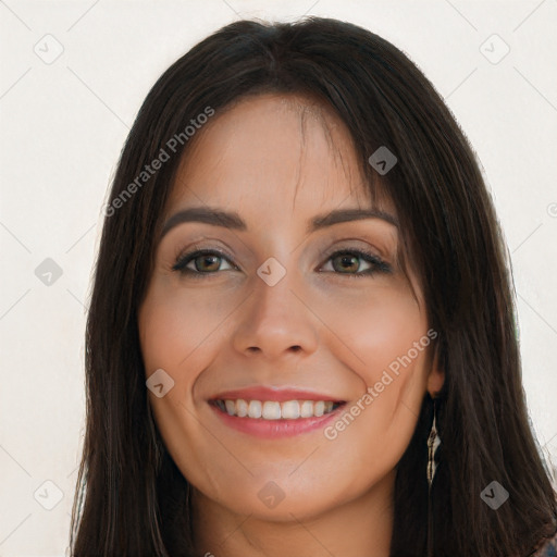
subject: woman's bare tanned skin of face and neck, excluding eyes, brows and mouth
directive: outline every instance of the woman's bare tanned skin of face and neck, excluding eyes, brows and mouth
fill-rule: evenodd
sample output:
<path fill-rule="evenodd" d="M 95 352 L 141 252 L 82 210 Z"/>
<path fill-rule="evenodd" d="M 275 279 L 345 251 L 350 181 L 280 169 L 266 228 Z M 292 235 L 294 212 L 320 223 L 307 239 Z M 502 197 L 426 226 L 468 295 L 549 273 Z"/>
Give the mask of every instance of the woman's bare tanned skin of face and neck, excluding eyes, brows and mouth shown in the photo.
<path fill-rule="evenodd" d="M 194 206 L 236 211 L 247 230 L 171 228 L 158 245 L 138 324 L 147 377 L 162 368 L 174 381 L 149 400 L 194 486 L 199 555 L 388 556 L 394 468 L 425 391 L 437 393 L 444 381 L 433 344 L 333 441 L 322 430 L 255 438 L 223 424 L 208 404 L 224 389 L 267 385 L 334 394 L 350 408 L 426 337 L 416 274 L 409 270 L 417 299 L 396 264 L 397 226 L 375 218 L 306 231 L 318 214 L 370 207 L 348 131 L 306 97 L 244 99 L 195 136 L 164 221 Z M 381 209 L 396 218 L 387 199 Z M 232 258 L 206 267 L 198 258 L 198 278 L 172 270 L 194 244 Z M 373 265 L 331 258 L 362 248 L 392 272 L 351 276 Z M 270 257 L 286 270 L 274 286 L 256 272 Z M 258 497 L 270 481 L 284 494 L 274 508 Z"/>

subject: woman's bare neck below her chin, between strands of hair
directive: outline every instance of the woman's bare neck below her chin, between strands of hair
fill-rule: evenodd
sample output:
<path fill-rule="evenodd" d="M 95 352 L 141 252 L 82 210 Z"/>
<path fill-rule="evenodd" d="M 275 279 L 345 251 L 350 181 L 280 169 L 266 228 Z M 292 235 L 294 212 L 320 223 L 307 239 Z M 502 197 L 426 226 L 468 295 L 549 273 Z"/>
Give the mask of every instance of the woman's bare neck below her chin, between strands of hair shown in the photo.
<path fill-rule="evenodd" d="M 244 516 L 194 490 L 196 555 L 211 557 L 388 557 L 393 471 L 360 497 L 284 521 Z"/>

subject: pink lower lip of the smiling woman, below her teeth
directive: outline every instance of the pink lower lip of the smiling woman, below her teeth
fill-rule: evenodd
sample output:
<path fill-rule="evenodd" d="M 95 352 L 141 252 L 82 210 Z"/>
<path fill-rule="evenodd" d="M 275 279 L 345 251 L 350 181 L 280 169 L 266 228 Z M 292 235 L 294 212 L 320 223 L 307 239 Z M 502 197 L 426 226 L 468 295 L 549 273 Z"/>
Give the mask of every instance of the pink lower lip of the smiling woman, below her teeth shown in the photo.
<path fill-rule="evenodd" d="M 325 424 L 338 417 L 345 405 L 341 405 L 332 412 L 313 418 L 297 418 L 296 420 L 263 420 L 262 418 L 239 418 L 223 412 L 218 406 L 209 405 L 225 425 L 253 435 L 256 437 L 274 440 L 293 437 L 301 433 L 309 433 L 325 426 Z"/>

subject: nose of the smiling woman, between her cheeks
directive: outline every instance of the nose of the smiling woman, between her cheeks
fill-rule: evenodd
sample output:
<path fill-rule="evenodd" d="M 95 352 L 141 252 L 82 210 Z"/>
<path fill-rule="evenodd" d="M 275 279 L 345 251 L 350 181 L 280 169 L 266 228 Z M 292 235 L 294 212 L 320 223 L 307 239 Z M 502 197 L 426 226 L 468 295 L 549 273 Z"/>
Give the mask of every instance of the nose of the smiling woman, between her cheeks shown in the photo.
<path fill-rule="evenodd" d="M 234 332 L 237 351 L 269 360 L 315 351 L 319 319 L 294 275 L 287 272 L 274 286 L 255 276 L 253 292 L 239 309 L 242 317 Z"/>

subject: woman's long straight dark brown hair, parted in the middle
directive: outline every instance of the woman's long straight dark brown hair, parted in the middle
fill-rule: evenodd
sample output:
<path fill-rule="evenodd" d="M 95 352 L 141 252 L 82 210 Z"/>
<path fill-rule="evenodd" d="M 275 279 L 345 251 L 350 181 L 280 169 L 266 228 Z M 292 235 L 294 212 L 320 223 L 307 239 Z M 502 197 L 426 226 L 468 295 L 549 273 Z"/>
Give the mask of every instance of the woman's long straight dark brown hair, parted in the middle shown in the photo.
<path fill-rule="evenodd" d="M 189 143 L 133 195 L 122 193 L 207 107 L 218 115 L 247 95 L 270 91 L 307 94 L 333 108 L 354 138 L 370 191 L 379 178 L 411 246 L 446 376 L 437 399 L 433 555 L 530 554 L 556 529 L 556 496 L 521 385 L 510 263 L 474 154 L 440 95 L 400 50 L 352 24 L 310 17 L 220 29 L 164 72 L 137 115 L 95 269 L 72 556 L 194 555 L 191 487 L 153 424 L 137 329 L 161 214 Z M 385 176 L 368 163 L 381 146 L 398 158 Z M 397 465 L 393 557 L 426 554 L 431 423 L 426 394 Z M 497 510 L 481 498 L 494 480 L 509 492 Z"/>

